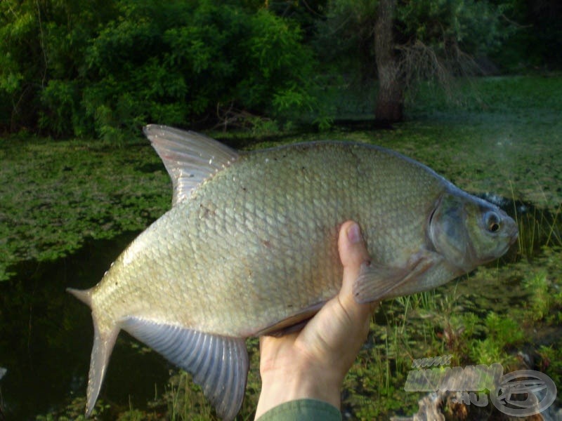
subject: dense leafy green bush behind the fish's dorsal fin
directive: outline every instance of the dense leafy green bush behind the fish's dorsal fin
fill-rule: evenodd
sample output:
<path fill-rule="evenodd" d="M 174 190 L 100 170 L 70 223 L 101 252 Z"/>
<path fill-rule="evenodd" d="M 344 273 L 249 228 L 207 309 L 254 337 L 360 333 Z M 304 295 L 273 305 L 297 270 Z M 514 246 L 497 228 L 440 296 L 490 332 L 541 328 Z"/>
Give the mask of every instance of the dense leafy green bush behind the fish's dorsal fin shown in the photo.
<path fill-rule="evenodd" d="M 84 95 L 98 133 L 136 131 L 152 121 L 212 121 L 218 108 L 232 104 L 280 119 L 315 106 L 313 55 L 298 27 L 268 11 L 134 1 L 122 12 L 86 58 L 99 78 Z"/>

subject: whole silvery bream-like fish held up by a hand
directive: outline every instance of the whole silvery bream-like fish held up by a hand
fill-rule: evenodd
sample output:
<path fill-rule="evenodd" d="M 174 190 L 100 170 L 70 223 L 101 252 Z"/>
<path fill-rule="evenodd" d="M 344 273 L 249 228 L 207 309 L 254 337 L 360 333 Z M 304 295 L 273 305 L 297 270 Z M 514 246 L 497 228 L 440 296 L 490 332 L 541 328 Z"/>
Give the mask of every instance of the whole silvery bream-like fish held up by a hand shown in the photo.
<path fill-rule="evenodd" d="M 144 133 L 172 206 L 93 288 L 91 415 L 120 330 L 192 374 L 224 420 L 244 398 L 246 338 L 306 323 L 341 287 L 337 237 L 360 225 L 371 256 L 353 286 L 373 302 L 440 286 L 506 253 L 516 223 L 492 203 L 389 149 L 306 142 L 237 152 L 194 132 Z"/>

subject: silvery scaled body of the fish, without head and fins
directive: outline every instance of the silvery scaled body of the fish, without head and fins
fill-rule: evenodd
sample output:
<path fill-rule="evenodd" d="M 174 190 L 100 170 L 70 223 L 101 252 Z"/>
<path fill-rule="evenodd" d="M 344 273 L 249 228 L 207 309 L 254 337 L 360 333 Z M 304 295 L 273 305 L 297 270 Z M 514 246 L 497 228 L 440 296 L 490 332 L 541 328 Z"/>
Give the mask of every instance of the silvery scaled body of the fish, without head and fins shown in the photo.
<path fill-rule="evenodd" d="M 325 302 L 341 283 L 339 225 L 403 267 L 447 182 L 375 147 L 318 143 L 243 155 L 131 243 L 93 293 L 126 316 L 247 336 Z"/>

